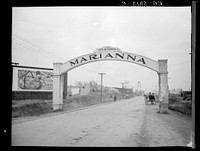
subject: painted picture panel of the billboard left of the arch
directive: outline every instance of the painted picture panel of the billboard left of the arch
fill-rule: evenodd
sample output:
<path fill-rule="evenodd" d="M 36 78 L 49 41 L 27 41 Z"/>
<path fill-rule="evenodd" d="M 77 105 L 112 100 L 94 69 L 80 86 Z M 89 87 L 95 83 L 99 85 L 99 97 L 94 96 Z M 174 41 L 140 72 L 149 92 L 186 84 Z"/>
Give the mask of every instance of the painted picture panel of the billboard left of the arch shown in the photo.
<path fill-rule="evenodd" d="M 53 90 L 53 72 L 18 69 L 18 90 Z"/>

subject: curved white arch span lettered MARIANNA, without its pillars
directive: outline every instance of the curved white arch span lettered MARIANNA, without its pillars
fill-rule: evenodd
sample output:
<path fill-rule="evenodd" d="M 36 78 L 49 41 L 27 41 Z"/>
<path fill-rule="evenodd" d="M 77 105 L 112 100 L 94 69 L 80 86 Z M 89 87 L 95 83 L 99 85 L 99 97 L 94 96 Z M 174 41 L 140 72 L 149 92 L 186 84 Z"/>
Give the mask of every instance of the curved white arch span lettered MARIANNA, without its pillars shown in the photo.
<path fill-rule="evenodd" d="M 79 56 L 71 59 L 62 64 L 60 73 L 64 73 L 78 66 L 97 61 L 125 61 L 130 63 L 136 63 L 145 67 L 148 67 L 154 71 L 158 71 L 158 62 L 150 58 L 136 55 L 129 52 L 123 52 L 117 47 L 102 47 L 96 49 L 93 53 Z"/>

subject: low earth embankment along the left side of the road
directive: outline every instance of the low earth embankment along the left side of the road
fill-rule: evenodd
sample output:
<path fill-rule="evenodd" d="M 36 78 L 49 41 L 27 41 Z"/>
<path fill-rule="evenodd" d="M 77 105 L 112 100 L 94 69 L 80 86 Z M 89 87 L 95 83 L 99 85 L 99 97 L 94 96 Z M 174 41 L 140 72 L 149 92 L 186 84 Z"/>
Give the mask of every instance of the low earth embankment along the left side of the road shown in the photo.
<path fill-rule="evenodd" d="M 115 94 L 117 100 L 123 99 L 122 95 Z M 110 93 L 104 93 L 101 101 L 101 94 L 91 93 L 88 95 L 76 95 L 63 100 L 63 109 L 60 111 L 83 108 L 95 104 L 113 101 Z M 17 100 L 12 101 L 12 118 L 25 116 L 39 116 L 53 112 L 52 100 Z"/>

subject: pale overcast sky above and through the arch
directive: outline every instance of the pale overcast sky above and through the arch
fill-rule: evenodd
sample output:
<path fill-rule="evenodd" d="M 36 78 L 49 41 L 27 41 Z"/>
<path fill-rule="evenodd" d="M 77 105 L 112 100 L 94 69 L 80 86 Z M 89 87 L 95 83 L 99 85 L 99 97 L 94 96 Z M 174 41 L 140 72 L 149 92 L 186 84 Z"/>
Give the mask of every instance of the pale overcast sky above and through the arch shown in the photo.
<path fill-rule="evenodd" d="M 168 59 L 169 89 L 191 90 L 191 7 L 13 7 L 12 62 L 53 68 L 104 46 L 153 60 Z M 100 61 L 68 73 L 68 83 L 158 89 L 155 71 L 134 63 Z"/>

